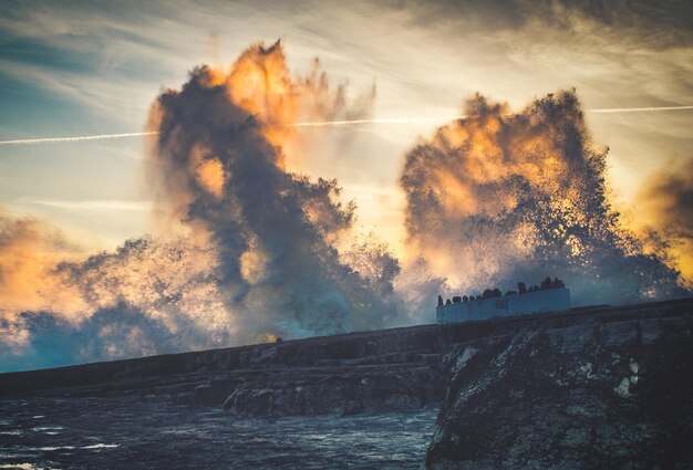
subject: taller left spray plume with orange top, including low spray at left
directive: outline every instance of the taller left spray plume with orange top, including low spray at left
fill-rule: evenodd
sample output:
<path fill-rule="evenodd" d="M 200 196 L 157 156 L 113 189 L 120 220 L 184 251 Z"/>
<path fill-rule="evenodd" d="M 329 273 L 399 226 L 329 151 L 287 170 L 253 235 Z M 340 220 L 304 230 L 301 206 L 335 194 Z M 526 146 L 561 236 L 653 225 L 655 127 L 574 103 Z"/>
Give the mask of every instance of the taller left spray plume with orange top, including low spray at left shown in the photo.
<path fill-rule="evenodd" d="M 335 180 L 287 169 L 298 166 L 301 140 L 281 127 L 300 116 L 360 118 L 371 100 L 348 103 L 318 64 L 291 76 L 279 43 L 249 48 L 230 71 L 194 70 L 158 97 L 146 133 L 157 213 L 166 213 L 161 232 L 84 261 L 50 260 L 41 272 L 71 286 L 80 307 L 59 315 L 50 302 L 15 295 L 18 305 L 0 306 L 0 341 L 10 346 L 0 363 L 27 368 L 392 322 L 399 262 L 368 240 L 337 249 L 348 246 L 355 205 L 341 201 Z"/>

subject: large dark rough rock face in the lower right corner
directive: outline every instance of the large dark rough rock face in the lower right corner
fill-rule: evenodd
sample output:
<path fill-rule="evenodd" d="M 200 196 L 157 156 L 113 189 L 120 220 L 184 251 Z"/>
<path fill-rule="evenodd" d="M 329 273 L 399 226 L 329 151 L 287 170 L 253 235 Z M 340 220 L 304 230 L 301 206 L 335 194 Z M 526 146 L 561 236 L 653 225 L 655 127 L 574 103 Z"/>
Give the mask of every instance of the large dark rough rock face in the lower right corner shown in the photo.
<path fill-rule="evenodd" d="M 692 468 L 692 328 L 662 304 L 454 346 L 426 467 Z"/>

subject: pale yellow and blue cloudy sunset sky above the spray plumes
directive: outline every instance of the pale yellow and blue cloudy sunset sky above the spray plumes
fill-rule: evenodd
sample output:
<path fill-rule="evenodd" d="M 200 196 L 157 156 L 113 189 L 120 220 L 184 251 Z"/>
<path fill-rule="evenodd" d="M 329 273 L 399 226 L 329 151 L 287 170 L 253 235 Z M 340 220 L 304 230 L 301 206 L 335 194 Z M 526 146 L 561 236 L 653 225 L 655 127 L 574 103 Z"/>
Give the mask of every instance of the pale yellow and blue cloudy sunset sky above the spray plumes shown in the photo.
<path fill-rule="evenodd" d="M 583 7 L 589 6 L 589 7 Z M 141 132 L 162 88 L 281 39 L 290 70 L 319 58 L 372 117 L 455 115 L 480 92 L 524 107 L 576 87 L 585 108 L 693 103 L 690 2 L 13 2 L 0 4 L 0 139 Z M 693 111 L 587 116 L 624 209 L 693 154 Z M 447 119 L 333 130 L 348 145 L 307 173 L 338 178 L 359 224 L 400 247 L 403 155 Z M 149 231 L 142 138 L 0 146 L 0 205 L 113 248 Z"/>

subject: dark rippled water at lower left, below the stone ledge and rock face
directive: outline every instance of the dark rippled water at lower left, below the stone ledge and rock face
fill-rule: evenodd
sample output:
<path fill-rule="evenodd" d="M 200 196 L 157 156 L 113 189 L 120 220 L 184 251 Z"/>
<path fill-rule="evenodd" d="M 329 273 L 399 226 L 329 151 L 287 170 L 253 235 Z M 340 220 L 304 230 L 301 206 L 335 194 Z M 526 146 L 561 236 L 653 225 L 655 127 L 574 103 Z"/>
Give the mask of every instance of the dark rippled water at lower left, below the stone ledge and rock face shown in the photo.
<path fill-rule="evenodd" d="M 0 400 L 0 469 L 421 469 L 436 412 L 261 419 L 138 397 Z"/>

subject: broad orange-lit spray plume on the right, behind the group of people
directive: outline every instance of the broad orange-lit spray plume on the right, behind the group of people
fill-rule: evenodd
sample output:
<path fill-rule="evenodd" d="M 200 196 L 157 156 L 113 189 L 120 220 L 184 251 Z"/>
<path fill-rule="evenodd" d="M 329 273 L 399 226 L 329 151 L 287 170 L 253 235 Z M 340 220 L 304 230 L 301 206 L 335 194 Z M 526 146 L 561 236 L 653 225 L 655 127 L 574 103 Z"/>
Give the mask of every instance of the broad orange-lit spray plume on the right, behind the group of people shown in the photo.
<path fill-rule="evenodd" d="M 623 228 L 575 92 L 517 114 L 480 95 L 406 156 L 412 255 L 463 291 L 559 275 L 578 304 L 683 294 L 679 273 Z M 476 294 L 476 292 L 473 292 Z"/>

